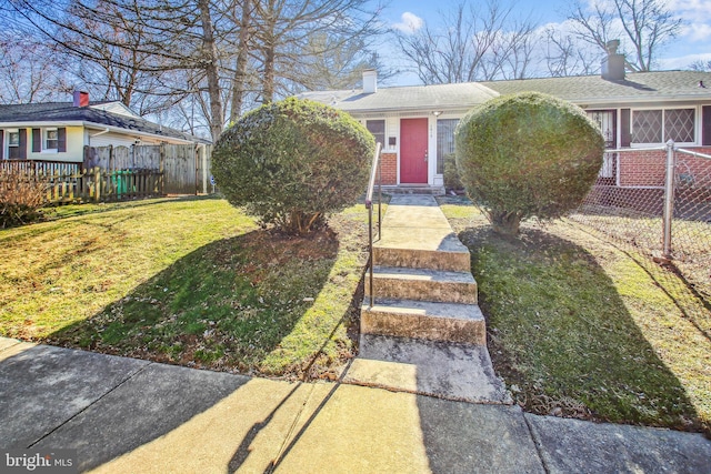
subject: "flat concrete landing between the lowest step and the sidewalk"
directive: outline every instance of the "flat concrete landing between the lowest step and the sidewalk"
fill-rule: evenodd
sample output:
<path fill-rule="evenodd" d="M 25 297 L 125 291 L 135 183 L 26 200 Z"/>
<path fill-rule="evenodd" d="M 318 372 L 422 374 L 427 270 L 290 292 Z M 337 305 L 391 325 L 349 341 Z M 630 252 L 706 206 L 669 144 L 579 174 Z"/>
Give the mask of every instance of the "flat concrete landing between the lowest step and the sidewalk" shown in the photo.
<path fill-rule="evenodd" d="M 472 403 L 511 404 L 485 346 L 362 334 L 344 383 Z"/>

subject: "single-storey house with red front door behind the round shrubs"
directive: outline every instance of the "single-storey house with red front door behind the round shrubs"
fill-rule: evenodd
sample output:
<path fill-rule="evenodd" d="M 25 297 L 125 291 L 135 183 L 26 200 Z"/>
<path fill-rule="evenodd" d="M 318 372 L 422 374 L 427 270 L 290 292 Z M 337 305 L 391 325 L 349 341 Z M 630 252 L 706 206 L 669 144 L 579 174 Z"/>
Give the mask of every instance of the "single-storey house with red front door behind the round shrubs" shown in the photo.
<path fill-rule="evenodd" d="M 383 184 L 443 191 L 444 157 L 453 131 L 472 107 L 499 94 L 538 91 L 569 100 L 595 120 L 608 148 L 661 147 L 668 140 L 711 154 L 711 72 L 624 73 L 623 57 L 603 61 L 603 75 L 378 88 L 375 71 L 363 89 L 306 92 L 301 98 L 344 110 L 383 143 Z M 659 159 L 658 157 L 659 155 Z M 662 152 L 605 155 L 600 177 L 609 184 L 658 186 Z M 710 183 L 711 184 L 711 183 Z"/>

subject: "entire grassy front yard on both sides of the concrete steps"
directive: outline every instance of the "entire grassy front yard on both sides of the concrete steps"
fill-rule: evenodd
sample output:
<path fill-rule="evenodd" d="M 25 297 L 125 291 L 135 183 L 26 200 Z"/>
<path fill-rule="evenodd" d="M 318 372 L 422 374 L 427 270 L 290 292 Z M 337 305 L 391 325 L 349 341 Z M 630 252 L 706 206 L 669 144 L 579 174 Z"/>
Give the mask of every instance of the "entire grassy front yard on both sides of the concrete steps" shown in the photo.
<path fill-rule="evenodd" d="M 711 433 L 711 312 L 675 274 L 564 220 L 505 240 L 468 201 L 441 204 L 517 403 Z M 353 355 L 362 204 L 310 239 L 210 198 L 53 212 L 0 231 L 0 335 L 283 377 L 334 379 Z"/>

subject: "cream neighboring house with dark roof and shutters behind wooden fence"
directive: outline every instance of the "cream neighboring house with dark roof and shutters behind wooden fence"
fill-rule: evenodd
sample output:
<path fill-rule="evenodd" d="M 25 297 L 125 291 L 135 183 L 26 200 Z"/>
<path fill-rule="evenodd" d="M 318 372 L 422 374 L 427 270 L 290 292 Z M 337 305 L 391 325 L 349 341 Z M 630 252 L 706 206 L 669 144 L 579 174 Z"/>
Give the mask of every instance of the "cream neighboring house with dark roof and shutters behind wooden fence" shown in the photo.
<path fill-rule="evenodd" d="M 133 144 L 209 144 L 161 127 L 121 102 L 89 103 L 74 92 L 73 102 L 0 105 L 0 159 L 81 163 L 84 147 Z"/>

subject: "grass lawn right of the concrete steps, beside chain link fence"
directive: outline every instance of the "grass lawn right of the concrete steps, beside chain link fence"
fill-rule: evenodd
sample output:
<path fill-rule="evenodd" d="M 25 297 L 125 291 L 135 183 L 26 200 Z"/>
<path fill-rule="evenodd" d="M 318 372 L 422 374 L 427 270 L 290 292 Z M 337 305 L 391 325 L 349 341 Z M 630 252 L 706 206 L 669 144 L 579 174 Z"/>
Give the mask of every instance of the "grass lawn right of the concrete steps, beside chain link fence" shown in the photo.
<path fill-rule="evenodd" d="M 519 404 L 711 433 L 711 312 L 674 273 L 568 221 L 508 240 L 465 200 L 442 210 L 472 251 L 489 351 Z"/>

